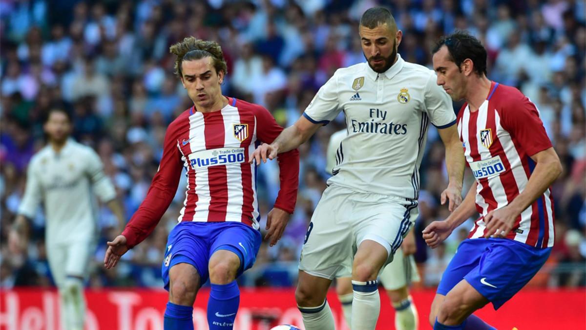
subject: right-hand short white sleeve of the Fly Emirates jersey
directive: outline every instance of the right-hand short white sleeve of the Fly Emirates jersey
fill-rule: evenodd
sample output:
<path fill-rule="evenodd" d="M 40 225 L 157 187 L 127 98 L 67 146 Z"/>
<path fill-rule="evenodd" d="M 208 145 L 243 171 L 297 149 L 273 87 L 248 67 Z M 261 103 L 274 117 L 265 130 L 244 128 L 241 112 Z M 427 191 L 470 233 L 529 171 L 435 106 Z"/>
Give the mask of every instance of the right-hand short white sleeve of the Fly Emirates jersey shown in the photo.
<path fill-rule="evenodd" d="M 430 75 L 425 85 L 425 112 L 430 116 L 431 123 L 438 129 L 445 129 L 456 123 L 452 99 L 445 90 L 435 83 L 435 74 Z"/>

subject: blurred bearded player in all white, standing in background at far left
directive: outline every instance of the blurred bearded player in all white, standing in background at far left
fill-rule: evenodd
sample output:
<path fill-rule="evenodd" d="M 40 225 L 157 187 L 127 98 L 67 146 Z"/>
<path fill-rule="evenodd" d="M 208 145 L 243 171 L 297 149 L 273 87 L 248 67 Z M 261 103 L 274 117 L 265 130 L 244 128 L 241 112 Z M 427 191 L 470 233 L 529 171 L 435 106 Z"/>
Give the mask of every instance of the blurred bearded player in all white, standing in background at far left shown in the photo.
<path fill-rule="evenodd" d="M 42 203 L 47 257 L 59 288 L 61 322 L 66 330 L 81 330 L 86 312 L 84 281 L 97 243 L 94 194 L 110 207 L 120 228 L 124 213 L 115 200 L 114 186 L 104 174 L 100 157 L 90 147 L 69 138 L 69 113 L 59 108 L 49 110 L 44 129 L 49 143 L 30 160 L 25 195 L 9 240 L 16 250 L 26 248 L 27 218 L 35 217 Z"/>

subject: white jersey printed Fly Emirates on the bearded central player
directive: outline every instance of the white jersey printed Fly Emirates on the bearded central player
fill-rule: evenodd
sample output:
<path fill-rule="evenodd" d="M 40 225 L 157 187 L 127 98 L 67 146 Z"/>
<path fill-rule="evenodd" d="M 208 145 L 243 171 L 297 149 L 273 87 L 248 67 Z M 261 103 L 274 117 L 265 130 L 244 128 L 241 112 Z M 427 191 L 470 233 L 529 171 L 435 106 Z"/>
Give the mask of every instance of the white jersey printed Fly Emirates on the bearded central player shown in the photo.
<path fill-rule="evenodd" d="M 417 199 L 428 124 L 456 122 L 451 98 L 435 81 L 435 72 L 398 54 L 384 73 L 366 62 L 336 70 L 304 112 L 323 124 L 346 115 L 347 137 L 328 184 Z"/>

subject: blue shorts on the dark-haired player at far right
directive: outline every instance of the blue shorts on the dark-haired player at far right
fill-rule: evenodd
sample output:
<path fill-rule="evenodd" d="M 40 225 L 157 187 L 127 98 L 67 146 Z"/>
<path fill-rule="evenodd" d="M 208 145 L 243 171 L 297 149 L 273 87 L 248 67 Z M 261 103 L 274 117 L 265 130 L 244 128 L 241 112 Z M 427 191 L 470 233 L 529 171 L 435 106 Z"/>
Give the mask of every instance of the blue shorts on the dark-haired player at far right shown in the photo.
<path fill-rule="evenodd" d="M 550 252 L 507 238 L 467 238 L 449 262 L 437 293 L 447 295 L 464 279 L 499 309 L 533 278 Z"/>

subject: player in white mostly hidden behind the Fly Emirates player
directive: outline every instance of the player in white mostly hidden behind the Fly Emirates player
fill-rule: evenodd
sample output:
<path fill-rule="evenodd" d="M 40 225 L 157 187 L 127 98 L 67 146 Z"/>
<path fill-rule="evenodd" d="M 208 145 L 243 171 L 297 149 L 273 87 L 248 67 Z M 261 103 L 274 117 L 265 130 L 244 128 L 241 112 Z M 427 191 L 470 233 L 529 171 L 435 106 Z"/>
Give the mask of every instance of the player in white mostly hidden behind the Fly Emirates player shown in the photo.
<path fill-rule="evenodd" d="M 336 151 L 347 134 L 347 129 L 343 129 L 333 133 L 330 137 L 326 151 L 326 171 L 330 174 L 336 166 Z M 415 235 L 413 230 L 410 230 L 403 238 L 403 244 L 398 248 L 393 261 L 383 268 L 379 276 L 395 309 L 395 328 L 397 330 L 417 329 L 417 308 L 413 304 L 408 288 L 411 282 L 420 281 L 415 258 L 413 258 L 416 250 Z M 342 303 L 346 325 L 350 326 L 352 324 L 352 278 L 340 277 L 336 279 L 336 293 Z"/>

